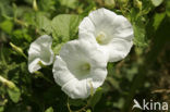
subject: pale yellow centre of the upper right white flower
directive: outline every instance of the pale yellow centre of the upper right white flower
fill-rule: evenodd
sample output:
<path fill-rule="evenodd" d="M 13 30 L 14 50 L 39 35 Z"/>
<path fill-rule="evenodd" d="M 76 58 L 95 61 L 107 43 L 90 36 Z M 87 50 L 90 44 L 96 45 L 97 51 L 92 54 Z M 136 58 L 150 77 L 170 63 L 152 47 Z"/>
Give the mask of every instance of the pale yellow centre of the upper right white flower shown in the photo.
<path fill-rule="evenodd" d="M 96 40 L 100 45 L 105 45 L 107 42 L 107 36 L 104 32 L 99 32 L 99 34 L 96 37 Z"/>

